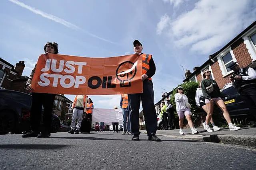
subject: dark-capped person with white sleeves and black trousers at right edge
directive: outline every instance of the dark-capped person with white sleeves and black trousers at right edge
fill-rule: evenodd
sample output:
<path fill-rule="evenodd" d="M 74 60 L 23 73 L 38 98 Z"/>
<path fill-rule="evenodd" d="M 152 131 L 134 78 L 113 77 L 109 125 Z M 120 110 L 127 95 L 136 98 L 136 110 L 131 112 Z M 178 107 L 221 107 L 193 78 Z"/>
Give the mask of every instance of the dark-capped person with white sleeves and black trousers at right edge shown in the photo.
<path fill-rule="evenodd" d="M 251 67 L 241 68 L 236 62 L 228 68 L 234 70 L 233 76 L 230 77 L 233 86 L 239 91 L 251 114 L 256 118 L 256 71 Z"/>

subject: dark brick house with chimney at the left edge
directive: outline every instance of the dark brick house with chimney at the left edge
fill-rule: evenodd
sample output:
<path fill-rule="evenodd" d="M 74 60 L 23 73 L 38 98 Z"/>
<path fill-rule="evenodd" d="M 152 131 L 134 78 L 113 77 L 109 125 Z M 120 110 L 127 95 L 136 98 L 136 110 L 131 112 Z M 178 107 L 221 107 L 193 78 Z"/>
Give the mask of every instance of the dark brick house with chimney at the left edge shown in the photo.
<path fill-rule="evenodd" d="M 24 61 L 19 61 L 14 67 L 14 65 L 0 58 L 0 88 L 28 93 L 25 90 L 28 76 L 22 76 L 24 68 Z"/>

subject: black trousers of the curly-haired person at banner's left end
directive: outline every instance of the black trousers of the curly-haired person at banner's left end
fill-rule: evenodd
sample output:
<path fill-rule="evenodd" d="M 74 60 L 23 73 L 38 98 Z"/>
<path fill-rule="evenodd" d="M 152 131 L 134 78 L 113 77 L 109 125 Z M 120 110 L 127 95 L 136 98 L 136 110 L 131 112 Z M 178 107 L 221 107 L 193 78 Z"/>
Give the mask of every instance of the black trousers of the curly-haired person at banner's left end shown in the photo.
<path fill-rule="evenodd" d="M 40 131 L 40 122 L 43 113 L 43 130 L 50 131 L 52 126 L 52 107 L 55 99 L 55 94 L 47 93 L 32 93 L 32 106 L 30 111 L 31 130 Z"/>

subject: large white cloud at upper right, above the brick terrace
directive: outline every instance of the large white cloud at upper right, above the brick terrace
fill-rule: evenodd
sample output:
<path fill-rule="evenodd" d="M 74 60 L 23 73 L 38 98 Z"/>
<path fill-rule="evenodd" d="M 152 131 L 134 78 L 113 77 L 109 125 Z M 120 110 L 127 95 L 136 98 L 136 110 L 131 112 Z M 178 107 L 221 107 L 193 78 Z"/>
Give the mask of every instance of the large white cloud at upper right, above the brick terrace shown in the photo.
<path fill-rule="evenodd" d="M 166 34 L 177 47 L 209 54 L 255 20 L 256 10 L 248 10 L 250 4 L 252 0 L 200 0 L 194 9 L 170 21 Z"/>

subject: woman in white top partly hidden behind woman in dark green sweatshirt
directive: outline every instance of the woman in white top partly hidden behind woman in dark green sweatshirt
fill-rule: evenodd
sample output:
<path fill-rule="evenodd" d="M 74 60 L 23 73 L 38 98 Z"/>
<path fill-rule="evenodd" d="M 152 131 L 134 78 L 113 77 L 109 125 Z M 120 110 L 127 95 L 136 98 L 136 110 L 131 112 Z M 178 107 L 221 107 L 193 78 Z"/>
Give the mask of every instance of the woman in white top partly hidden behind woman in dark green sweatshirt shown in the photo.
<path fill-rule="evenodd" d="M 206 104 L 205 104 L 205 97 L 204 97 L 204 94 L 203 94 L 202 89 L 201 89 L 201 82 L 199 82 L 199 87 L 196 89 L 196 106 L 199 107 L 199 108 L 200 107 L 203 108 L 204 111 L 207 113 L 207 110 L 206 110 L 207 108 L 206 108 Z M 212 117 L 211 117 L 210 122 L 212 123 L 212 127 L 213 127 L 214 131 L 220 130 L 220 128 L 214 124 Z M 203 127 L 208 132 L 213 132 L 212 129 L 206 129 L 206 122 L 203 123 Z"/>

